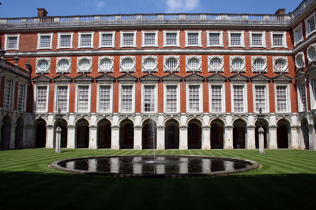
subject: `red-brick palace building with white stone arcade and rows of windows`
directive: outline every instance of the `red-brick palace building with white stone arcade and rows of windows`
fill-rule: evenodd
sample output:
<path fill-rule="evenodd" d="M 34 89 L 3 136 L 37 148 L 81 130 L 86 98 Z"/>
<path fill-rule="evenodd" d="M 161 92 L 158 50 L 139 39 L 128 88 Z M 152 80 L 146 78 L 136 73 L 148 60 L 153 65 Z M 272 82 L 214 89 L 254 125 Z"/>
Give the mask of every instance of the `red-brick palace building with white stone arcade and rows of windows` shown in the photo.
<path fill-rule="evenodd" d="M 285 14 L 0 18 L 1 149 L 316 150 L 316 0 Z"/>

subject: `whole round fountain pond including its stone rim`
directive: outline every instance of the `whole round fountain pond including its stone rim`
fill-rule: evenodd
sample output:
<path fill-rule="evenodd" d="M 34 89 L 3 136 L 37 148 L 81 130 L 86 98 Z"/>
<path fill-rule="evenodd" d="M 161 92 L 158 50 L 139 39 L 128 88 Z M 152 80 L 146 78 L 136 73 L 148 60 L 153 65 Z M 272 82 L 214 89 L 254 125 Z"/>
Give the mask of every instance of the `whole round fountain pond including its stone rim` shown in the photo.
<path fill-rule="evenodd" d="M 205 177 L 247 172 L 261 165 L 252 160 L 191 155 L 112 155 L 57 160 L 51 168 L 117 177 Z"/>

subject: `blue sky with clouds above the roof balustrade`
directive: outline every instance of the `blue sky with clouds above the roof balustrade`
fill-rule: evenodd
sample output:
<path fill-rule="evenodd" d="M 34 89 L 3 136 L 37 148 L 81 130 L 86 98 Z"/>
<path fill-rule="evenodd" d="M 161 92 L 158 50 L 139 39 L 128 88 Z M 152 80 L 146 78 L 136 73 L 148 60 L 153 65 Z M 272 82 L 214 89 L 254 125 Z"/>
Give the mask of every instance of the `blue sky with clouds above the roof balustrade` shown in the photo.
<path fill-rule="evenodd" d="M 0 0 L 0 17 L 34 17 L 36 8 L 48 16 L 135 13 L 285 13 L 299 6 L 298 0 Z"/>

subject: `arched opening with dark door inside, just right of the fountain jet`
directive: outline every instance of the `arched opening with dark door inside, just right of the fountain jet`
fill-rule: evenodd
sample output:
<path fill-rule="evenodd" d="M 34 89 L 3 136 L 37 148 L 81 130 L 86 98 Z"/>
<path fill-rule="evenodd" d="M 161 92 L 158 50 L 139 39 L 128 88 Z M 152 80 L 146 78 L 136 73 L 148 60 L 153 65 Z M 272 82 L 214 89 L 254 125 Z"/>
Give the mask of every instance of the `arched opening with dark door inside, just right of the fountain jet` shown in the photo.
<path fill-rule="evenodd" d="M 165 149 L 179 149 L 179 123 L 168 120 L 165 128 Z"/>

